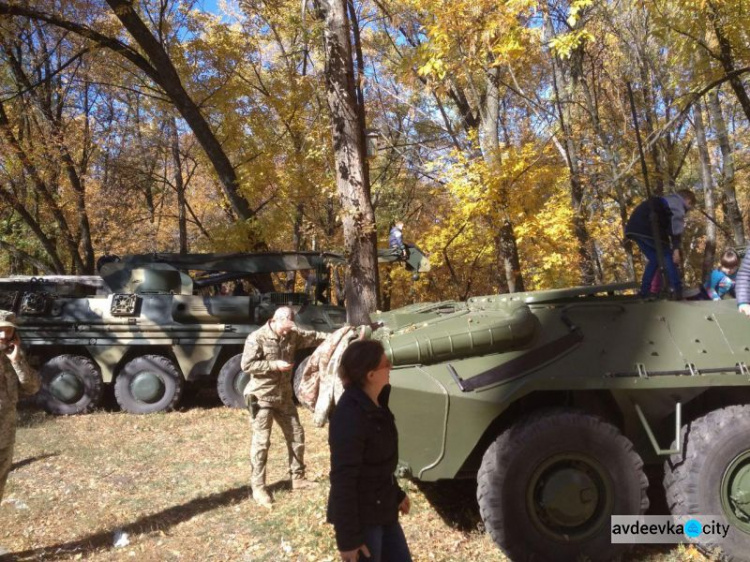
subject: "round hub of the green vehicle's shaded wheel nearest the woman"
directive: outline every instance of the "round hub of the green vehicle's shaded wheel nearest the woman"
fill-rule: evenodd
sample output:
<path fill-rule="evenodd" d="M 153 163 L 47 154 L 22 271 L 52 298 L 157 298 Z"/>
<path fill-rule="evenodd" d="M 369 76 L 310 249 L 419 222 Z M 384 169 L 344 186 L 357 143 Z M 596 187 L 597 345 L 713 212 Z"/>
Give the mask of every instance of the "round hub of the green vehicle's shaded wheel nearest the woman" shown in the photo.
<path fill-rule="evenodd" d="M 548 459 L 529 483 L 534 523 L 560 540 L 583 539 L 594 532 L 612 498 L 604 474 L 599 463 L 579 455 Z"/>

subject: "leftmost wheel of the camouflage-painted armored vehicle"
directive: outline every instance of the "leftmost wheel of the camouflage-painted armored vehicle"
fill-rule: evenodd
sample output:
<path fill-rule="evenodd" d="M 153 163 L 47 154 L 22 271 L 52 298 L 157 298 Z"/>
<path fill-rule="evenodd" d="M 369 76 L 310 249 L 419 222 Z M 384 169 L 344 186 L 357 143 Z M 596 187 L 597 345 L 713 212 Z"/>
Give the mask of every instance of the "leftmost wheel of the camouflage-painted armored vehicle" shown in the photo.
<path fill-rule="evenodd" d="M 101 401 L 102 375 L 88 357 L 58 355 L 42 365 L 39 376 L 37 401 L 50 414 L 83 414 Z"/>

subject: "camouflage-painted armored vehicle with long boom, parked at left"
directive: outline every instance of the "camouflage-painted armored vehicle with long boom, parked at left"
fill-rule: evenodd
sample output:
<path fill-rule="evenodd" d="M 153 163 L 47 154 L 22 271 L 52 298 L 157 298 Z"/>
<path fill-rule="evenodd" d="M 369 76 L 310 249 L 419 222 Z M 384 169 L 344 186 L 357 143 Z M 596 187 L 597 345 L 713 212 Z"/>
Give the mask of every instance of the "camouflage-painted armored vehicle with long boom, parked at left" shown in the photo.
<path fill-rule="evenodd" d="M 428 269 L 417 249 L 408 258 L 415 272 Z M 399 259 L 382 252 L 383 261 Z M 109 383 L 132 413 L 171 410 L 187 383 L 201 382 L 240 407 L 245 339 L 276 308 L 292 306 L 300 324 L 319 331 L 346 321 L 344 308 L 327 304 L 328 268 L 343 263 L 316 252 L 125 256 L 105 260 L 100 276 L 0 279 L 0 308 L 17 314 L 42 376 L 40 403 L 51 413 L 90 411 Z M 309 293 L 274 280 L 295 271 L 312 272 Z"/>

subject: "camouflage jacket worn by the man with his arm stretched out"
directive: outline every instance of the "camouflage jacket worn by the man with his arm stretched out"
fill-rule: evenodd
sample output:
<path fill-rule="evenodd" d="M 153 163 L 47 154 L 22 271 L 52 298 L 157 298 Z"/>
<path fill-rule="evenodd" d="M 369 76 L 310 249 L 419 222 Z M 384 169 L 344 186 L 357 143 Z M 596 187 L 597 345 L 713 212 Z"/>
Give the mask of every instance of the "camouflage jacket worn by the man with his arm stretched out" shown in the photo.
<path fill-rule="evenodd" d="M 325 332 L 300 330 L 295 327 L 286 336 L 279 337 L 266 323 L 245 340 L 242 353 L 242 370 L 250 375 L 245 395 L 254 395 L 259 402 L 281 402 L 291 399 L 292 374 L 280 371 L 279 362 L 294 363 L 298 349 L 318 345 L 328 336 Z"/>

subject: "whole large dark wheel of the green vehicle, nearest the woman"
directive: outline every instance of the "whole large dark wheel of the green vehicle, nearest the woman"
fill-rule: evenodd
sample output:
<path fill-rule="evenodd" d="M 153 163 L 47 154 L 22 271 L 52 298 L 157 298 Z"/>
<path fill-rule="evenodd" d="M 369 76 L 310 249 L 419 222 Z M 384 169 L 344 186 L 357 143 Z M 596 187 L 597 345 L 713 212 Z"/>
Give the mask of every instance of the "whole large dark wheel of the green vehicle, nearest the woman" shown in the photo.
<path fill-rule="evenodd" d="M 648 508 L 633 444 L 601 418 L 544 410 L 490 445 L 477 477 L 485 528 L 513 561 L 609 560 L 610 517 Z"/>

